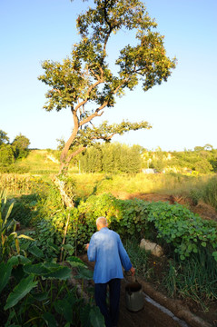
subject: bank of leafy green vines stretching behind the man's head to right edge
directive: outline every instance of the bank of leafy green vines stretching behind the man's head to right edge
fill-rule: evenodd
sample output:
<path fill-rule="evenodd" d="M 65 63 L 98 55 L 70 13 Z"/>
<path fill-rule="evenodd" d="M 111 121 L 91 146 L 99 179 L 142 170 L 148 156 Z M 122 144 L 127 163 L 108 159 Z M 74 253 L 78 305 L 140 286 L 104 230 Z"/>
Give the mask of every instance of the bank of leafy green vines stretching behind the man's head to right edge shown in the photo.
<path fill-rule="evenodd" d="M 216 223 L 202 220 L 180 204 L 146 203 L 138 199 L 123 201 L 104 193 L 90 196 L 70 214 L 66 242 L 78 250 L 82 250 L 83 244 L 89 241 L 95 231 L 95 220 L 102 215 L 107 217 L 111 228 L 123 238 L 135 235 L 153 241 L 159 239 L 171 244 L 182 260 L 197 253 L 200 247 L 206 247 L 211 253 L 215 253 L 217 248 Z M 42 228 L 40 237 L 46 241 L 51 237 L 54 241 L 55 234 L 55 242 L 60 245 L 66 214 L 56 213 L 48 220 L 47 226 L 45 221 L 42 222 L 47 234 L 43 236 Z"/>

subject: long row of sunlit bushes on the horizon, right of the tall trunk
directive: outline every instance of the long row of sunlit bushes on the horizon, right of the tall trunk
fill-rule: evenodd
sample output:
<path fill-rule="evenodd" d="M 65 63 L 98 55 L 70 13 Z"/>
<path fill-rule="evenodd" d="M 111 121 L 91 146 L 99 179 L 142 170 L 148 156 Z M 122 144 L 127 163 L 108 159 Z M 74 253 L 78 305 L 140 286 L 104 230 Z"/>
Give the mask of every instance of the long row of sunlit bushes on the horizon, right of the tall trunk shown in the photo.
<path fill-rule="evenodd" d="M 81 173 L 140 173 L 151 168 L 155 173 L 216 173 L 217 150 L 195 146 L 194 150 L 154 151 L 140 145 L 98 144 L 79 155 Z"/>

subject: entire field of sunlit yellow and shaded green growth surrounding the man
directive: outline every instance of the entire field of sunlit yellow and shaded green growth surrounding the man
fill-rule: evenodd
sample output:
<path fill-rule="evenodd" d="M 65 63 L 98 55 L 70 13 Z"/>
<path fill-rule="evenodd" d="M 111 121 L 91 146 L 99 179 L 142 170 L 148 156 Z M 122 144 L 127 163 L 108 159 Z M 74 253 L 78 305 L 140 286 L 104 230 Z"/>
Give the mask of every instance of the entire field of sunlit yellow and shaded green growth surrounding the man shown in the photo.
<path fill-rule="evenodd" d="M 0 312 L 6 325 L 104 325 L 93 293 L 85 302 L 68 283 L 72 271 L 80 281 L 92 279 L 93 272 L 79 258 L 101 215 L 121 235 L 140 278 L 180 300 L 205 322 L 215 323 L 213 174 L 79 173 L 72 167 L 67 185 L 74 207 L 69 209 L 53 183 L 58 163 L 50 154 L 52 163 L 43 165 L 44 155 L 47 158 L 35 152 L 28 158 L 28 173 L 0 175 Z M 26 166 L 27 161 L 20 164 Z M 163 257 L 140 249 L 143 238 L 161 245 Z"/>

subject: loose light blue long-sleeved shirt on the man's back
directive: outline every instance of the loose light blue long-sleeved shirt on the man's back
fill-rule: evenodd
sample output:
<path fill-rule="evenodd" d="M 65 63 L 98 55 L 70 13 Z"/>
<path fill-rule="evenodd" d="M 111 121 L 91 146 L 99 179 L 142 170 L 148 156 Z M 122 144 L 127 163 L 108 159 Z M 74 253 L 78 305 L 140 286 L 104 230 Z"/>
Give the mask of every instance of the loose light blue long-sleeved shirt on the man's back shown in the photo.
<path fill-rule="evenodd" d="M 113 278 L 123 278 L 123 269 L 129 271 L 132 263 L 118 233 L 102 228 L 93 234 L 87 256 L 95 262 L 94 282 L 109 282 Z"/>

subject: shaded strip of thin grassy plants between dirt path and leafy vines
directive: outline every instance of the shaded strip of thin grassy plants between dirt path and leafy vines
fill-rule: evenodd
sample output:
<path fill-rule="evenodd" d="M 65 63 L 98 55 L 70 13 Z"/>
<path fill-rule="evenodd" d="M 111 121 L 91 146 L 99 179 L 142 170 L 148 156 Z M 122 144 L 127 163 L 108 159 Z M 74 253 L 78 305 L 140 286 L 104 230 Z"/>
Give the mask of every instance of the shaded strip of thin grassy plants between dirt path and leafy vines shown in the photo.
<path fill-rule="evenodd" d="M 189 299 L 199 304 L 203 312 L 217 301 L 217 265 L 204 249 L 184 261 L 178 257 L 156 258 L 139 247 L 138 240 L 123 242 L 136 273 L 158 285 L 172 298 Z"/>

